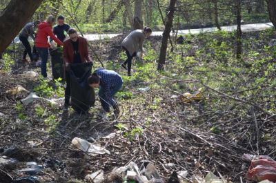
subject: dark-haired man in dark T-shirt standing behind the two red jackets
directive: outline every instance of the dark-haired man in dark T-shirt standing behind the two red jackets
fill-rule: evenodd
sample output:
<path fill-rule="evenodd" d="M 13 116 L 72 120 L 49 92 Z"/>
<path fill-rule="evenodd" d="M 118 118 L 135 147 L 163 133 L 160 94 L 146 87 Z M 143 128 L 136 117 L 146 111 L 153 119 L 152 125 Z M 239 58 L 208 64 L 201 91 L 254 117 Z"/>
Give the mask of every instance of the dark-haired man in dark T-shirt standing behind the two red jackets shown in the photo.
<path fill-rule="evenodd" d="M 59 15 L 59 17 L 57 17 L 57 26 L 55 26 L 52 30 L 52 32 L 54 32 L 54 35 L 56 35 L 57 38 L 62 42 L 64 42 L 64 39 L 68 34 L 68 30 L 70 29 L 70 26 L 64 23 L 64 20 L 65 18 L 62 15 Z"/>

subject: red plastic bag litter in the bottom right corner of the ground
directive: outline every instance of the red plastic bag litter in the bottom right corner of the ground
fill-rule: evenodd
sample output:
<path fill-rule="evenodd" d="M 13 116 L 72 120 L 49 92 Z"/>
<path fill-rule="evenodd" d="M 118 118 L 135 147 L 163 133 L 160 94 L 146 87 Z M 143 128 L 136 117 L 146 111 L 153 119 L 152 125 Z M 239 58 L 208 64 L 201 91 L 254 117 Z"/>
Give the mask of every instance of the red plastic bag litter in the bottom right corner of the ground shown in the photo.
<path fill-rule="evenodd" d="M 262 180 L 276 182 L 276 162 L 270 157 L 252 160 L 246 178 L 256 182 Z"/>

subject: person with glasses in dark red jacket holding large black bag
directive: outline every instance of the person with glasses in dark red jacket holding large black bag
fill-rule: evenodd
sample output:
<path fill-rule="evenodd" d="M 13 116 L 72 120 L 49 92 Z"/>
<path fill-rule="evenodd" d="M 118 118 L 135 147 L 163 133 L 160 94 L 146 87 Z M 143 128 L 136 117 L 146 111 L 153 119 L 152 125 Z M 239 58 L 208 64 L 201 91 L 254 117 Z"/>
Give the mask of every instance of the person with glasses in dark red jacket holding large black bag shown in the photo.
<path fill-rule="evenodd" d="M 77 30 L 75 28 L 70 28 L 68 30 L 68 35 L 70 39 L 64 41 L 63 47 L 63 61 L 65 63 L 65 73 L 66 73 L 66 90 L 65 90 L 65 103 L 63 110 L 68 110 L 69 100 L 70 100 L 70 64 L 79 64 L 85 62 L 92 62 L 88 52 L 88 42 L 85 38 L 79 37 Z M 84 70 L 81 68 L 75 68 L 74 73 L 77 77 L 81 77 Z"/>

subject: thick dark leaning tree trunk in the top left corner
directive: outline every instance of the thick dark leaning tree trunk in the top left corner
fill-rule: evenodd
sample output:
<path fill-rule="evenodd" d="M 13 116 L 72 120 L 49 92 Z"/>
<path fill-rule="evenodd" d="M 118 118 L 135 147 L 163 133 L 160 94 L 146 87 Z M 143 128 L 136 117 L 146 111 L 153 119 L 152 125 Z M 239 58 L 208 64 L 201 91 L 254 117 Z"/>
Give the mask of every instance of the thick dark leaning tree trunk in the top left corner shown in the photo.
<path fill-rule="evenodd" d="M 30 20 L 43 0 L 11 0 L 0 15 L 0 53 L 12 42 L 21 28 Z M 28 8 L 26 8 L 28 5 Z M 16 23 L 15 23 L 16 22 Z"/>

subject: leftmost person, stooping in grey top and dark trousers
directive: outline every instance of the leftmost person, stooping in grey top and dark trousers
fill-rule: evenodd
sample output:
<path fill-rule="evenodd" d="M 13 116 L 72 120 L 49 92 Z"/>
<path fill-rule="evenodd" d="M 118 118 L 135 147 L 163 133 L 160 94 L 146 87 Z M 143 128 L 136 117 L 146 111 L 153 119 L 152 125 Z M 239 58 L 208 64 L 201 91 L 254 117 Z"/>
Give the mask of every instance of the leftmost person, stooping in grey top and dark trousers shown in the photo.
<path fill-rule="evenodd" d="M 30 57 L 30 61 L 34 61 L 34 59 L 32 57 L 32 48 L 30 47 L 28 37 L 30 36 L 33 40 L 35 39 L 34 29 L 37 28 L 39 23 L 40 23 L 39 20 L 35 21 L 35 22 L 26 23 L 26 25 L 23 27 L 23 29 L 21 30 L 21 32 L 19 34 L 19 40 L 25 47 L 25 50 L 23 52 L 22 61 L 27 61 L 27 59 L 26 59 L 27 53 Z"/>

